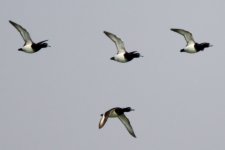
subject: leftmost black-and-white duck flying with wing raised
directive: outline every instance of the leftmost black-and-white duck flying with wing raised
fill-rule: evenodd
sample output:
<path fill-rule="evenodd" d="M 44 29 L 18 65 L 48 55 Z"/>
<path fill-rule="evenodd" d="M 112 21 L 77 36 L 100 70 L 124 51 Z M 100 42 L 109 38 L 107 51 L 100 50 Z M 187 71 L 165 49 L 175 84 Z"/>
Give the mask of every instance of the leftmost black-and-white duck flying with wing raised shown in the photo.
<path fill-rule="evenodd" d="M 35 53 L 39 51 L 41 48 L 50 47 L 46 41 L 44 40 L 39 43 L 34 43 L 30 37 L 30 34 L 27 32 L 26 29 L 24 29 L 21 25 L 9 20 L 9 22 L 19 31 L 20 35 L 22 36 L 24 40 L 24 45 L 22 48 L 18 49 L 19 51 L 23 51 L 26 53 Z"/>

